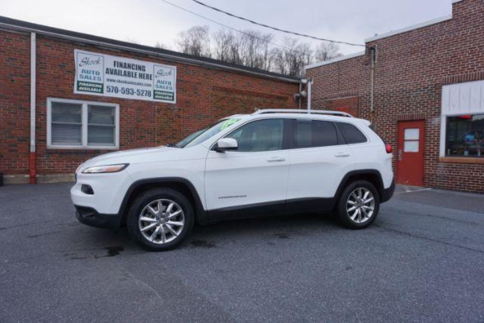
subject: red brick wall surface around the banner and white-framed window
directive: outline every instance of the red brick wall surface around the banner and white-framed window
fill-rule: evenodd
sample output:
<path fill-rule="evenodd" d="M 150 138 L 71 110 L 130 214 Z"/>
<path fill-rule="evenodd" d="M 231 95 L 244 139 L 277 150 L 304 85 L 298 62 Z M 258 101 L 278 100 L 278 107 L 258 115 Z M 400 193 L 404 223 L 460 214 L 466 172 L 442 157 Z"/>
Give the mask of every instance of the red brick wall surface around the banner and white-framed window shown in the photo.
<path fill-rule="evenodd" d="M 74 94 L 74 49 L 177 65 L 177 104 Z M 37 35 L 37 173 L 72 173 L 101 150 L 46 148 L 47 97 L 120 105 L 120 149 L 177 142 L 198 128 L 236 113 L 297 108 L 299 85 L 222 69 L 175 63 Z M 30 33 L 0 31 L 0 172 L 29 173 Z"/>

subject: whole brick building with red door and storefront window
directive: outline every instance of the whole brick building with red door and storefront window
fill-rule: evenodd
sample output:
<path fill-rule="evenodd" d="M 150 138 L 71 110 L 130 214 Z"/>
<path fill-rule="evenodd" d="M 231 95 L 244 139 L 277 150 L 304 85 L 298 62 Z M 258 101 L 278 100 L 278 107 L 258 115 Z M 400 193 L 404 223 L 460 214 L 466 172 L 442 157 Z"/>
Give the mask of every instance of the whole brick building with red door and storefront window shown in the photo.
<path fill-rule="evenodd" d="M 312 108 L 371 120 L 399 183 L 484 193 L 484 1 L 306 66 Z"/>

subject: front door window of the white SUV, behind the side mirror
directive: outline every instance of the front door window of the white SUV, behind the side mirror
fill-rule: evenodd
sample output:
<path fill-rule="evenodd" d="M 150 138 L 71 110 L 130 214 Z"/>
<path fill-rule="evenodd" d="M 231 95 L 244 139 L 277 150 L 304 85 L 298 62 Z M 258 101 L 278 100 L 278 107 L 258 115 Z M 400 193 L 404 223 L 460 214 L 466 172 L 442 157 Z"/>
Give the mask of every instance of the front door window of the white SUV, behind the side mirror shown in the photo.
<path fill-rule="evenodd" d="M 283 146 L 284 121 L 264 119 L 244 124 L 226 138 L 237 140 L 238 152 L 266 152 L 281 150 Z"/>

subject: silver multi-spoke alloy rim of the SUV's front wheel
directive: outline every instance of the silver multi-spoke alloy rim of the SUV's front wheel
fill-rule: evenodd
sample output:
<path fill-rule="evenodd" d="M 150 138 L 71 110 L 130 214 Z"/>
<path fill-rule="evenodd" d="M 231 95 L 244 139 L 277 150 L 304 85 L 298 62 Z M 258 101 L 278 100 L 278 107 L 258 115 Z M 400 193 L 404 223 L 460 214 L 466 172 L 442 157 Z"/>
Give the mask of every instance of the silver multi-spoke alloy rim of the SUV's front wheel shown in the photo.
<path fill-rule="evenodd" d="M 184 224 L 185 216 L 180 205 L 165 199 L 148 203 L 138 219 L 141 234 L 155 244 L 165 244 L 176 239 Z"/>

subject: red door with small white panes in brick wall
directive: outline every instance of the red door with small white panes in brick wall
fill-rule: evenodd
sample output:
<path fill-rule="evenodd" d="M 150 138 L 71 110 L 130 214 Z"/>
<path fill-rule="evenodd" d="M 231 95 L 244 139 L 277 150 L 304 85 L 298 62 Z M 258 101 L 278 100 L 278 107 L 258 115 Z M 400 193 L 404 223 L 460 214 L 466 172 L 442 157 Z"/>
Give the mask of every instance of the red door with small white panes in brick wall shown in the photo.
<path fill-rule="evenodd" d="M 406 185 L 423 185 L 423 143 L 425 121 L 398 123 L 397 182 Z"/>

